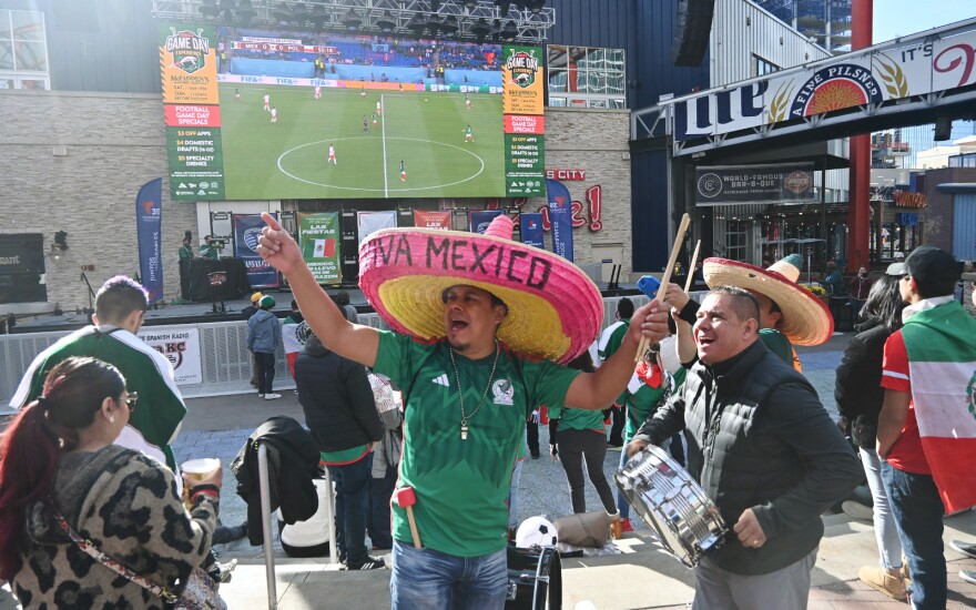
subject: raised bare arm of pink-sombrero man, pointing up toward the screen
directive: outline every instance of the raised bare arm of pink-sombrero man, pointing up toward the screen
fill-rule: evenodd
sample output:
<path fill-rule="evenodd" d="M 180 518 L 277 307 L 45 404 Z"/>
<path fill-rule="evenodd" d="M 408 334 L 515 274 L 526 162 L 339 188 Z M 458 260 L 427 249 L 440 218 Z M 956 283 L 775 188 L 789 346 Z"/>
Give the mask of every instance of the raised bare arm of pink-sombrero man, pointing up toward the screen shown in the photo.
<path fill-rule="evenodd" d="M 268 265 L 287 277 L 302 315 L 315 335 L 323 345 L 339 356 L 373 366 L 379 347 L 379 334 L 376 329 L 347 322 L 315 281 L 295 240 L 267 212 L 262 213 L 261 217 L 267 226 L 261 232 L 257 253 Z"/>

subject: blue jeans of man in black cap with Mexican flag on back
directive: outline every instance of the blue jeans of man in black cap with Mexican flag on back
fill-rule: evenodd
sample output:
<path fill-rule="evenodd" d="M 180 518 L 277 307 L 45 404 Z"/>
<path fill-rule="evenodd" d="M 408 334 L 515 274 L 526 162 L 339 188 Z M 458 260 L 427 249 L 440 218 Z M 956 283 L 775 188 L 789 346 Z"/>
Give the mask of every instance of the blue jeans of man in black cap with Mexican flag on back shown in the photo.
<path fill-rule="evenodd" d="M 942 542 L 945 506 L 931 475 L 913 475 L 881 464 L 902 549 L 912 570 L 912 602 L 916 610 L 945 610 L 945 549 Z"/>

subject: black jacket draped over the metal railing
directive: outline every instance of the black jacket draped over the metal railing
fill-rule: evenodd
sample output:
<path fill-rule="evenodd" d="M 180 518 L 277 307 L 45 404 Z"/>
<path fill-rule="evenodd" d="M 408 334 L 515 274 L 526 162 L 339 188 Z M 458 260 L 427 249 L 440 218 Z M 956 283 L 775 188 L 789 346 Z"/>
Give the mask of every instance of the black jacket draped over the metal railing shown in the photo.
<path fill-rule="evenodd" d="M 292 525 L 309 519 L 318 510 L 318 494 L 312 479 L 318 477 L 318 446 L 301 424 L 275 416 L 262 424 L 247 441 L 231 469 L 237 477 L 237 495 L 247 502 L 247 539 L 264 543 L 261 519 L 261 487 L 257 478 L 257 446 L 267 446 L 268 495 L 271 509 L 282 509 L 284 521 Z"/>

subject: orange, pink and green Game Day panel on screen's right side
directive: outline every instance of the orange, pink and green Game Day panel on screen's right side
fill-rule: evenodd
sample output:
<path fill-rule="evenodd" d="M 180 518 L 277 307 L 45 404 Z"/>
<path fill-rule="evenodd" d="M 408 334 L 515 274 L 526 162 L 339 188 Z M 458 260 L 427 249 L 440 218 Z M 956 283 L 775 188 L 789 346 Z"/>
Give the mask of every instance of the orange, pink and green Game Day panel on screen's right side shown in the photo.
<path fill-rule="evenodd" d="M 505 195 L 546 196 L 546 75 L 542 51 L 505 47 L 502 111 L 505 113 Z"/>

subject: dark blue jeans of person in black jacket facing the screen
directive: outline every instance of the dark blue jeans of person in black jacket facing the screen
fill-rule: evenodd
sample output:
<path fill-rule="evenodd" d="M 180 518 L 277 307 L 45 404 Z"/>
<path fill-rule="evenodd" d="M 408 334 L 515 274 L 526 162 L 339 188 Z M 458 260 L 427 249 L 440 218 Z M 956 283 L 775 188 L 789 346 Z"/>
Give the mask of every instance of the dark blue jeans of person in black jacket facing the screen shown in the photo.
<path fill-rule="evenodd" d="M 347 563 L 366 559 L 366 502 L 372 470 L 372 453 L 359 461 L 328 467 L 336 486 L 336 546 Z"/>

